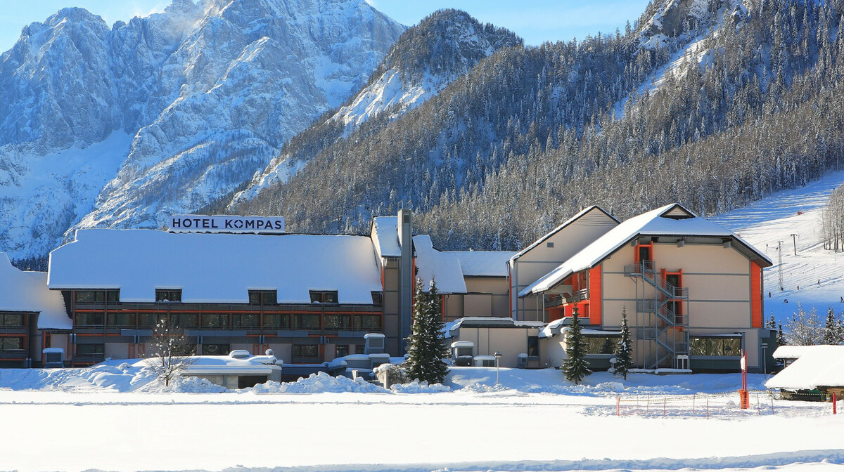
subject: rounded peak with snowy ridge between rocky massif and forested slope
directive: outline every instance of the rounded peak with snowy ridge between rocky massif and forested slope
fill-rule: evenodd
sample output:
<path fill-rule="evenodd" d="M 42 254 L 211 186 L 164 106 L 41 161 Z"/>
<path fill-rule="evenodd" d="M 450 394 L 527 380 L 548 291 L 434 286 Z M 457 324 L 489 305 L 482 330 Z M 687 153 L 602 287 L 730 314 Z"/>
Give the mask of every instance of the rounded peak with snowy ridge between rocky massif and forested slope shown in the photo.
<path fill-rule="evenodd" d="M 479 23 L 468 13 L 443 9 L 409 28 L 354 97 L 332 115 L 324 116 L 299 140 L 279 154 L 252 182 L 235 195 L 231 207 L 248 201 L 270 185 L 285 182 L 306 164 L 303 148 L 320 148 L 381 115 L 390 121 L 439 94 L 484 57 L 506 47 L 522 46 L 510 30 Z M 337 125 L 342 126 L 337 126 Z"/>

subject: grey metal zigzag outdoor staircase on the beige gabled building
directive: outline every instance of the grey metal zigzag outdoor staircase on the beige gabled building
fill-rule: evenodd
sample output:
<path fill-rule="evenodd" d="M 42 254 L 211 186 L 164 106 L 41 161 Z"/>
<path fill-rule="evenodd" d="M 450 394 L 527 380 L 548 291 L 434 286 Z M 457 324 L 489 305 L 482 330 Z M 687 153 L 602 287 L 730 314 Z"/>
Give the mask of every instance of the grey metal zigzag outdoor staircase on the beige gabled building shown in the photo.
<path fill-rule="evenodd" d="M 689 288 L 674 287 L 657 274 L 653 260 L 625 266 L 625 276 L 636 281 L 636 339 L 653 341 L 655 346 L 645 353 L 644 367 L 676 367 L 677 356 L 689 354 L 689 321 L 688 316 L 674 313 L 674 303 L 687 301 Z M 646 294 L 647 286 L 653 287 L 652 295 Z"/>

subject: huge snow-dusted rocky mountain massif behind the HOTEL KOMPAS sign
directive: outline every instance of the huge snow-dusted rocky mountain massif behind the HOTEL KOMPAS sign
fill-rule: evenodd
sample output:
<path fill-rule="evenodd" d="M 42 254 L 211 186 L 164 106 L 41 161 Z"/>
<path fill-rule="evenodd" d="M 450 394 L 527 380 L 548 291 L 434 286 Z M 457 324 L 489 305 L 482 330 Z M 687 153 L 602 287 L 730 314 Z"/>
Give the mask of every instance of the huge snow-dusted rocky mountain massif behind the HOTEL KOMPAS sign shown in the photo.
<path fill-rule="evenodd" d="M 111 29 L 82 8 L 30 24 L 0 56 L 0 249 L 45 255 L 75 228 L 154 228 L 229 195 L 403 30 L 364 0 L 175 0 Z"/>

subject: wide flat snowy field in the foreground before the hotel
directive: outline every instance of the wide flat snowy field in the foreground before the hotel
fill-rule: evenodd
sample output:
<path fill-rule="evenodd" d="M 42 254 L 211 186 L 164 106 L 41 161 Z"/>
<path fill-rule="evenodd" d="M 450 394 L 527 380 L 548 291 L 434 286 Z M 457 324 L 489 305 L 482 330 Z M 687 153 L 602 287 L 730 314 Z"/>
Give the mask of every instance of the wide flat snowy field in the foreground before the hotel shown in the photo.
<path fill-rule="evenodd" d="M 765 380 L 740 410 L 738 374 L 502 368 L 495 387 L 495 368 L 455 367 L 412 393 L 326 375 L 220 392 L 125 365 L 5 369 L 0 470 L 844 470 L 844 416 Z"/>

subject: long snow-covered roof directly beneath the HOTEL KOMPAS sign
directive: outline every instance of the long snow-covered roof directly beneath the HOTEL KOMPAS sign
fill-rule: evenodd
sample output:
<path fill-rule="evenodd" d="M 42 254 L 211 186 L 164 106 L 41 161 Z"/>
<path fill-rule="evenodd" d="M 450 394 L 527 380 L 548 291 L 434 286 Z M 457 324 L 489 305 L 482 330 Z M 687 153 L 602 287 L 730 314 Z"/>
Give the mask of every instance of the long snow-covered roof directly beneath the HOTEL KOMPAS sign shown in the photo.
<path fill-rule="evenodd" d="M 279 303 L 311 303 L 310 290 L 338 303 L 372 303 L 381 291 L 371 239 L 322 234 L 167 233 L 80 229 L 50 254 L 50 288 L 120 289 L 122 302 L 154 302 L 156 288 L 181 288 L 184 303 L 248 303 L 275 290 Z"/>

